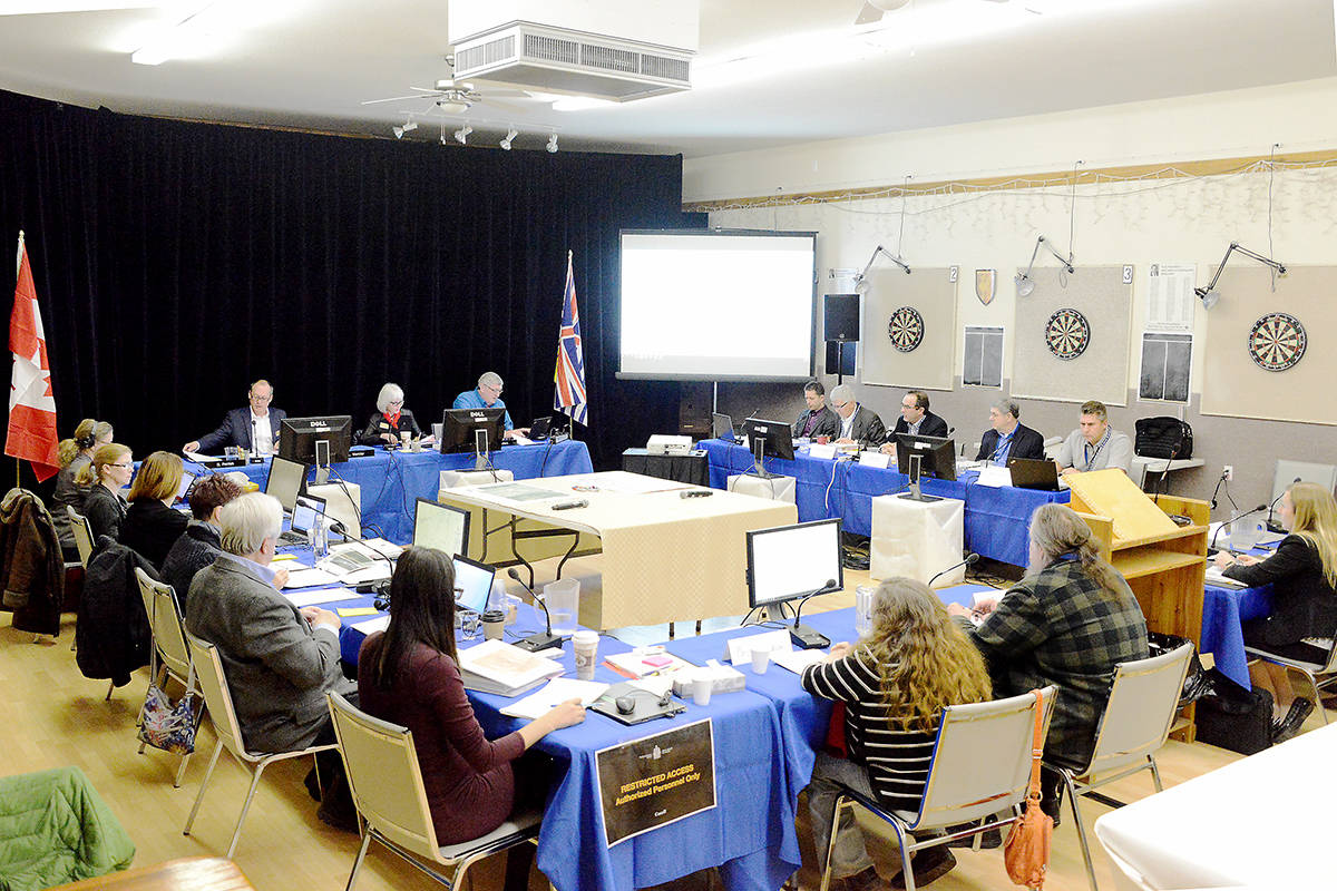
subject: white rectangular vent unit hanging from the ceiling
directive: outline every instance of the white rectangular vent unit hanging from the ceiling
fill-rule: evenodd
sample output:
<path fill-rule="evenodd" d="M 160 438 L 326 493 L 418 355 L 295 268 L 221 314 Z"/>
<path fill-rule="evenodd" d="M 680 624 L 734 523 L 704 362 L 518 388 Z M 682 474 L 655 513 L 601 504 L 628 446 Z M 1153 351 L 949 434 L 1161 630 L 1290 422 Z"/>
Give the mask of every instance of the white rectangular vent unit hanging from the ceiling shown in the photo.
<path fill-rule="evenodd" d="M 690 90 L 694 55 L 519 21 L 455 44 L 455 76 L 630 102 Z"/>

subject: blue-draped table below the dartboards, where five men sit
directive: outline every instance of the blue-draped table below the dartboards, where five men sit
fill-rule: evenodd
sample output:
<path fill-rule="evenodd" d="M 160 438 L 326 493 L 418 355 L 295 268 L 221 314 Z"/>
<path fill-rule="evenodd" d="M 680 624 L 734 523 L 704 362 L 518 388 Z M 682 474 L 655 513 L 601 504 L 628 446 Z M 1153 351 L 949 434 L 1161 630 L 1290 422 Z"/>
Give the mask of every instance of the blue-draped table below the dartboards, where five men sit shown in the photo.
<path fill-rule="evenodd" d="M 727 478 L 750 473 L 755 464 L 751 452 L 723 439 L 703 439 L 698 449 L 710 457 L 710 485 L 725 489 Z M 794 460 L 766 457 L 765 469 L 794 477 L 798 520 L 841 517 L 845 532 L 870 536 L 873 532 L 873 498 L 904 492 L 909 477 L 893 468 L 873 468 L 854 461 L 814 458 L 809 446 L 796 446 Z M 965 546 L 981 557 L 1017 566 L 1029 557 L 1028 525 L 1031 514 L 1043 504 L 1067 504 L 1067 490 L 1042 492 L 1015 486 L 981 486 L 979 473 L 967 470 L 959 480 L 925 480 L 924 494 L 957 498 L 965 502 Z"/>

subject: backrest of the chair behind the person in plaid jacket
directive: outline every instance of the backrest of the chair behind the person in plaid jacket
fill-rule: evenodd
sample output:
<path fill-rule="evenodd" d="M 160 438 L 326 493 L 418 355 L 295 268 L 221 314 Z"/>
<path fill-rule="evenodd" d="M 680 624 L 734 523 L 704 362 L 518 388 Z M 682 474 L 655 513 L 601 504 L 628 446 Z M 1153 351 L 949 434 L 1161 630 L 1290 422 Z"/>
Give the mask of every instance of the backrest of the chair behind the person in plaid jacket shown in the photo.
<path fill-rule="evenodd" d="M 1091 764 L 1083 776 L 1144 761 L 1165 745 L 1179 708 L 1190 659 L 1193 644 L 1185 644 L 1169 653 L 1115 667 L 1110 703 L 1100 716 Z"/>

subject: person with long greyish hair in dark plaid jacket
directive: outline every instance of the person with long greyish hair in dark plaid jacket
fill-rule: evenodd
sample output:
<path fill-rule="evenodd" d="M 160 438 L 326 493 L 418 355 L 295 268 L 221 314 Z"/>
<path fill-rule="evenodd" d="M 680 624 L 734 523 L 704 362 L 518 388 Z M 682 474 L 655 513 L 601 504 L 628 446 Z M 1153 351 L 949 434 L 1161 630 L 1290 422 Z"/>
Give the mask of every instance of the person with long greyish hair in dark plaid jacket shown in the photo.
<path fill-rule="evenodd" d="M 1128 582 L 1096 546 L 1091 528 L 1071 508 L 1040 505 L 1031 514 L 1031 566 L 976 628 L 963 628 L 993 676 L 993 693 L 1017 696 L 1054 684 L 1058 695 L 1047 761 L 1084 769 L 1110 701 L 1114 667 L 1146 659 L 1147 621 Z M 956 606 L 953 614 L 964 616 Z M 1063 781 L 1044 768 L 1042 807 L 1058 822 Z"/>

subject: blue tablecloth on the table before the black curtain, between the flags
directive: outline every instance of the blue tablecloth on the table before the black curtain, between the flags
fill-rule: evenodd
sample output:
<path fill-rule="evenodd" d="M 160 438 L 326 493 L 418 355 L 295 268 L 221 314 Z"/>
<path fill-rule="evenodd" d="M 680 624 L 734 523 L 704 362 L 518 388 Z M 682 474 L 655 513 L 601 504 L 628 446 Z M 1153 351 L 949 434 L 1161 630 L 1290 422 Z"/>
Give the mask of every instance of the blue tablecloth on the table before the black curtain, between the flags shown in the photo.
<path fill-rule="evenodd" d="M 509 470 L 516 480 L 560 477 L 591 473 L 590 449 L 584 442 L 567 439 L 554 445 L 509 445 L 492 453 L 499 470 Z M 413 514 L 418 498 L 436 501 L 443 470 L 473 468 L 473 454 L 440 452 L 386 452 L 376 446 L 370 457 L 353 458 L 332 468 L 330 480 L 356 482 L 361 488 L 362 528 L 398 544 L 413 538 Z M 193 465 L 191 469 L 205 469 Z M 235 468 L 262 488 L 269 478 L 269 462 Z"/>

